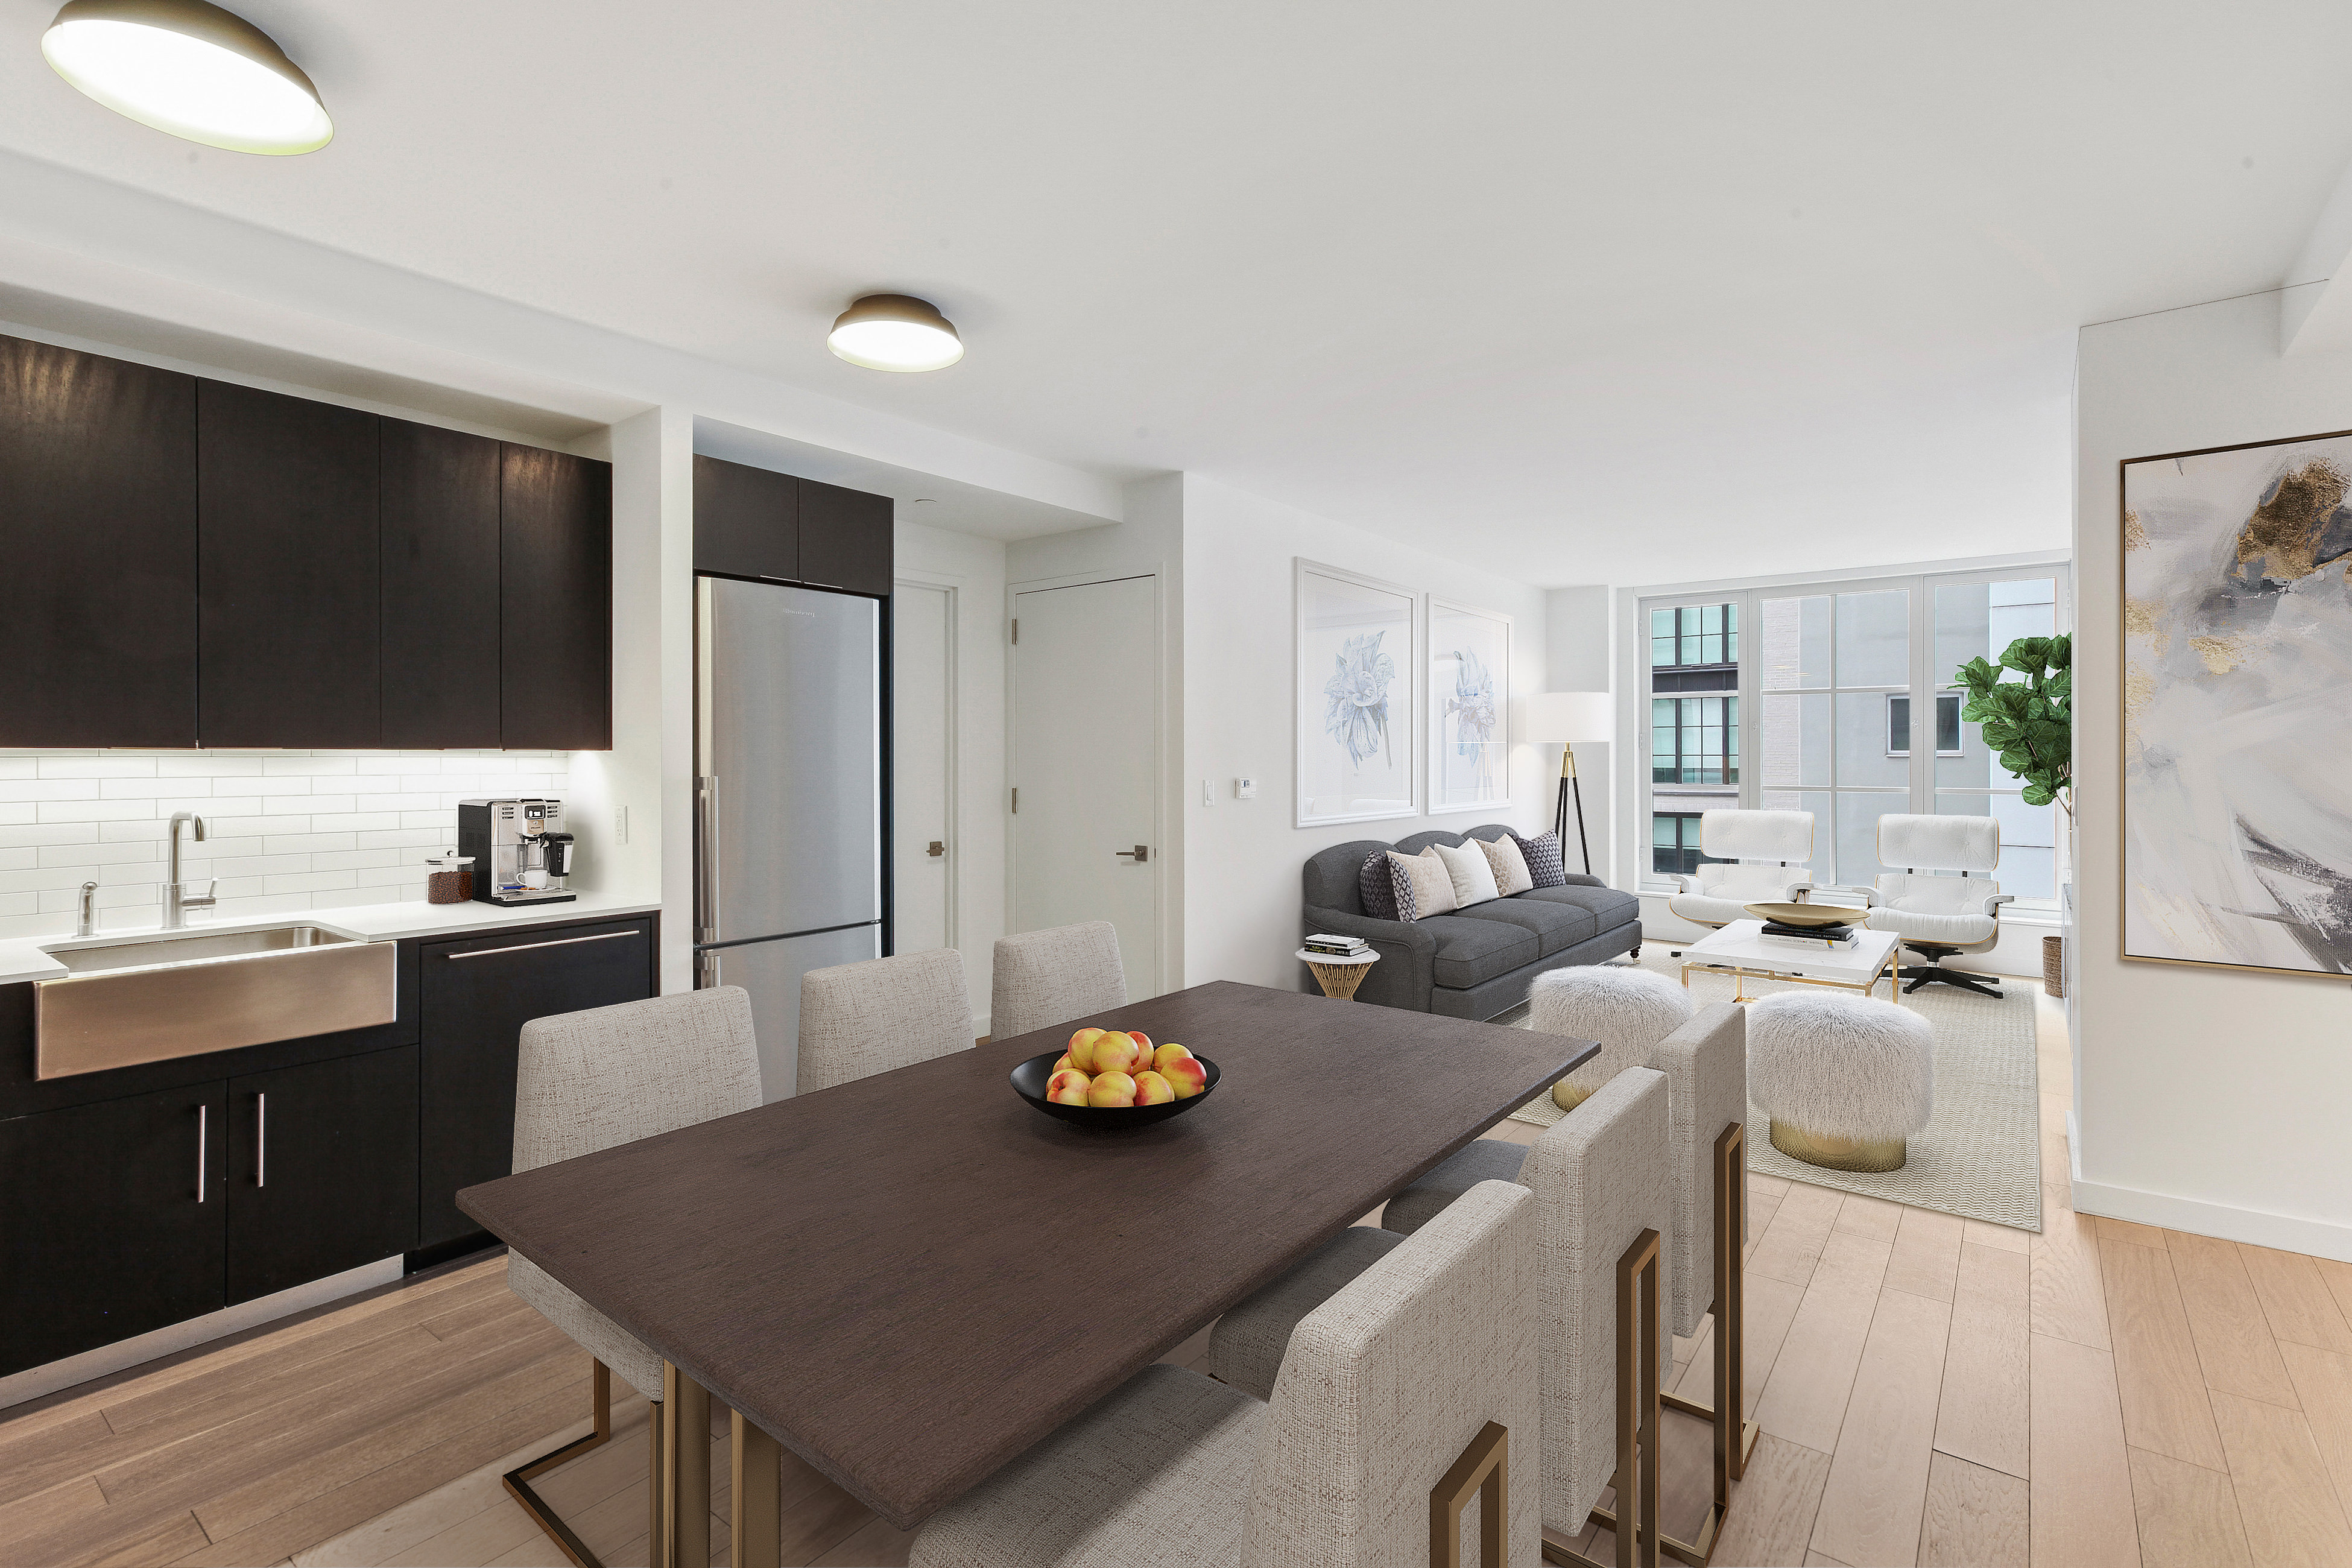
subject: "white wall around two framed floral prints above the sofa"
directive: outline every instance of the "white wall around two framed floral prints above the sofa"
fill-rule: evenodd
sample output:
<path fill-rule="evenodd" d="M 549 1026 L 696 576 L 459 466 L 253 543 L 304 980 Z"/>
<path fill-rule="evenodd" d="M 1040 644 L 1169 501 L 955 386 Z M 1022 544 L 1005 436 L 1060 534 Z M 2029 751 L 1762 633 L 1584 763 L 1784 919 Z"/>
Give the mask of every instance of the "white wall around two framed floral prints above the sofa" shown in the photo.
<path fill-rule="evenodd" d="M 1129 501 L 1129 517 L 1136 515 Z M 1442 520 L 1430 536 L 1442 541 Z M 1505 820 L 1548 827 L 1555 748 L 1515 745 L 1512 804 L 1383 823 L 1294 827 L 1291 562 L 1308 557 L 1515 618 L 1510 693 L 1545 689 L 1545 592 L 1454 552 L 1369 534 L 1345 522 L 1183 477 L 1183 689 L 1185 689 L 1185 985 L 1249 980 L 1315 990 L 1298 947 L 1301 867 L 1317 849 L 1350 839 L 1402 839 L 1428 827 L 1461 832 Z M 1418 759 L 1416 759 L 1418 766 Z M 1258 780 L 1256 799 L 1232 799 L 1232 780 Z M 1216 804 L 1204 806 L 1209 780 Z M 1573 853 L 1573 851 L 1571 851 Z"/>

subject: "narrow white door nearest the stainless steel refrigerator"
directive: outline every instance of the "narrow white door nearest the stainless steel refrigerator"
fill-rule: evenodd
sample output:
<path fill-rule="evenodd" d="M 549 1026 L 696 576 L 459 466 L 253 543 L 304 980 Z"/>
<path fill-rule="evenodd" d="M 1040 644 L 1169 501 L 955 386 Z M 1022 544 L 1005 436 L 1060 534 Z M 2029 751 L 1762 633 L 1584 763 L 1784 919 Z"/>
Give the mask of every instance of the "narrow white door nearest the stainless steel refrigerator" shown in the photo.
<path fill-rule="evenodd" d="M 898 952 L 955 945 L 955 590 L 891 595 L 891 914 Z"/>

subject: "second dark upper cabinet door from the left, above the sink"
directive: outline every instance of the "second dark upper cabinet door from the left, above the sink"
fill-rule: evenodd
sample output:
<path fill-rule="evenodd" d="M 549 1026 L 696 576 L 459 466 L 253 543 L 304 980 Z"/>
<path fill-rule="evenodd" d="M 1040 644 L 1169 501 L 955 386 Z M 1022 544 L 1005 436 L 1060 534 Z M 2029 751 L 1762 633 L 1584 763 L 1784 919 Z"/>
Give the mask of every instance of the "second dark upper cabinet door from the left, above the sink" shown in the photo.
<path fill-rule="evenodd" d="M 195 414 L 202 743 L 383 745 L 381 421 L 226 381 Z"/>

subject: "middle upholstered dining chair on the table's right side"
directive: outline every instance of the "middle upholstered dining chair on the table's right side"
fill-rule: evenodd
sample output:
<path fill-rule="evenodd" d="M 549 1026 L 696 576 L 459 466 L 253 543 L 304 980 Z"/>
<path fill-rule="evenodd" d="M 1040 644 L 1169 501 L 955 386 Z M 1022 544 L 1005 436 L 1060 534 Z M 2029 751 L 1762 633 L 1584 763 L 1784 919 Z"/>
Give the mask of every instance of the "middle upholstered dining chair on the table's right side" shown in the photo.
<path fill-rule="evenodd" d="M 1630 1505 L 1646 1521 L 1644 1561 L 1656 1563 L 1656 1408 L 1672 1368 L 1672 1342 L 1661 1333 L 1672 1265 L 1665 1239 L 1672 1227 L 1672 1182 L 1665 1157 L 1668 1079 L 1651 1067 L 1628 1067 L 1569 1117 L 1545 1128 L 1526 1147 L 1519 1185 L 1536 1197 L 1536 1248 L 1543 1260 L 1543 1528 L 1576 1540 L 1595 1516 L 1602 1488 L 1642 1441 L 1639 1486 L 1618 1486 L 1621 1512 Z M 1482 1182 L 1472 1192 L 1486 1192 Z M 1468 1197 L 1468 1194 L 1463 1194 Z M 1414 1237 L 1454 1218 L 1461 1199 L 1421 1220 Z M 1364 1229 L 1364 1227 L 1357 1227 Z M 1355 1241 L 1348 1234 L 1315 1253 L 1294 1274 L 1265 1286 L 1218 1319 L 1209 1335 L 1209 1371 L 1244 1392 L 1261 1392 L 1268 1378 L 1279 1387 L 1298 1354 L 1298 1331 L 1319 1307 L 1315 1288 L 1348 1288 L 1345 1262 L 1369 1258 L 1369 1276 L 1411 1244 Z M 1621 1267 L 1625 1265 L 1625 1267 Z M 1623 1300 L 1625 1274 L 1649 1276 L 1646 1305 Z M 1301 1316 L 1305 1314 L 1305 1316 Z M 1618 1349 L 1628 1361 L 1618 1359 Z M 1642 1352 L 1649 1375 L 1642 1375 Z M 1639 1385 L 1639 1387 L 1635 1387 Z M 1628 1392 L 1637 1396 L 1628 1396 Z M 1632 1476 L 1635 1467 L 1625 1467 Z M 1613 1521 L 1611 1521 L 1613 1523 Z M 1632 1544 L 1630 1540 L 1625 1542 Z M 1548 1547 L 1552 1556 L 1559 1547 Z M 1571 1554 L 1573 1556 L 1573 1554 Z M 1630 1561 L 1623 1559 L 1621 1561 Z"/>

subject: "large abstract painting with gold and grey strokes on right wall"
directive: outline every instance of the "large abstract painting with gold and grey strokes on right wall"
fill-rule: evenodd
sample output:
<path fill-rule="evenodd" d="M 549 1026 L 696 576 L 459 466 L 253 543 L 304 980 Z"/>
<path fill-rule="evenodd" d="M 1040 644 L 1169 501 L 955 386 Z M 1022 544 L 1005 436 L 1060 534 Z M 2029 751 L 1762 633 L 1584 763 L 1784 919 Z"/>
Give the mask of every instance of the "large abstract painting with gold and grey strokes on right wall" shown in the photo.
<path fill-rule="evenodd" d="M 2352 973 L 2352 433 L 2124 463 L 2124 957 Z"/>

